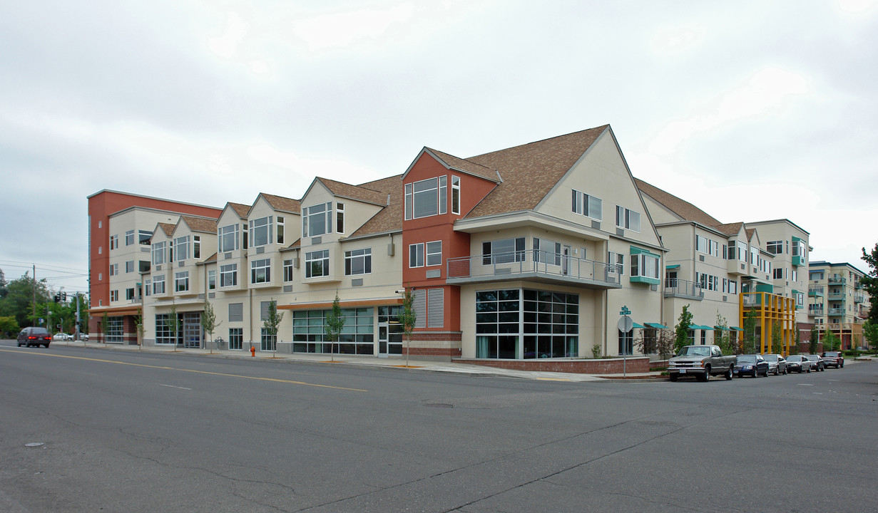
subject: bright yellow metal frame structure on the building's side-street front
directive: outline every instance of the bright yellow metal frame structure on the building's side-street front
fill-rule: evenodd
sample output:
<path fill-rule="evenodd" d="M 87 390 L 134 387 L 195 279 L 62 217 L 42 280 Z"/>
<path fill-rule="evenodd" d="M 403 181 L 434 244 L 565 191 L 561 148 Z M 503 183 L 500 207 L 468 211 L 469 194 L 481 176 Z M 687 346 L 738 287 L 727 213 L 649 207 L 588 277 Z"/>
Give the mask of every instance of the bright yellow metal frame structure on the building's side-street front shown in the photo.
<path fill-rule="evenodd" d="M 769 294 L 768 292 L 747 292 L 740 294 L 738 302 L 739 324 L 744 326 L 744 319 L 750 310 L 757 312 L 756 324 L 759 326 L 759 353 L 769 353 L 772 348 L 772 328 L 774 323 L 781 324 L 781 353 L 789 354 L 789 348 L 795 345 L 795 298 Z M 746 336 L 746 333 L 741 333 Z"/>

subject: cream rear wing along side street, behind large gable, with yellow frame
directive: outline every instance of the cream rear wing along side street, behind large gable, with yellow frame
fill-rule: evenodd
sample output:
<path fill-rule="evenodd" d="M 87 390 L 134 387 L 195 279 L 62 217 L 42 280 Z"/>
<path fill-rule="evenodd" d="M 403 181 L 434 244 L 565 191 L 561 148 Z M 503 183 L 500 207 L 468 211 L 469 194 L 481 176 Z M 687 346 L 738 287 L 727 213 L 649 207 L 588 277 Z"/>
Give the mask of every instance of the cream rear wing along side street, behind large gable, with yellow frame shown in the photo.
<path fill-rule="evenodd" d="M 666 310 L 688 305 L 694 343 L 710 343 L 723 327 L 739 339 L 750 310 L 763 351 L 774 324 L 781 326 L 785 347 L 794 344 L 797 329 L 809 328 L 802 315 L 805 278 L 797 273 L 811 249 L 808 232 L 788 219 L 723 224 L 650 183 L 637 180 L 637 187 L 668 251 Z M 802 325 L 796 312 L 802 312 Z"/>

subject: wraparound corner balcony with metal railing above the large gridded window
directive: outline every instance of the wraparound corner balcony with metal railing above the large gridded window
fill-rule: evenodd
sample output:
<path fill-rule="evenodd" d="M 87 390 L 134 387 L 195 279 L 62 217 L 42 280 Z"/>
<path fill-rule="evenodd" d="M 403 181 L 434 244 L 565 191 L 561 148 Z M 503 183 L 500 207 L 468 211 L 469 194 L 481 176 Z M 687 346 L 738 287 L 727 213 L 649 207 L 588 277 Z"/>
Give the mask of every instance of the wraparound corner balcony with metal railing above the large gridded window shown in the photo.
<path fill-rule="evenodd" d="M 622 289 L 615 266 L 545 251 L 520 251 L 448 259 L 448 283 L 530 280 L 578 284 L 587 289 Z"/>

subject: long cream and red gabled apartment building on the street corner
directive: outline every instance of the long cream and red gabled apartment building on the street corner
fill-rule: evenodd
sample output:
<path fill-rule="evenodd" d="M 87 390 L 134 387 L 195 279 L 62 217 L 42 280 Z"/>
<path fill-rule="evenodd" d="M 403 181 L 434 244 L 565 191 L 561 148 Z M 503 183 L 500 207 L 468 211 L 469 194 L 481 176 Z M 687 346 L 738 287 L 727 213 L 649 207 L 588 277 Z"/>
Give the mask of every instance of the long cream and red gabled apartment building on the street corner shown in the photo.
<path fill-rule="evenodd" d="M 119 253 L 126 273 L 110 280 L 132 303 L 109 302 L 103 315 L 127 339 L 126 316 L 142 314 L 144 343 L 159 346 L 204 347 L 208 305 L 225 347 L 282 353 L 632 354 L 635 338 L 673 327 L 684 305 L 694 343 L 739 336 L 757 307 L 761 333 L 781 320 L 791 340 L 795 307 L 773 298 L 804 291 L 797 273 L 810 250 L 786 219 L 723 224 L 636 180 L 608 125 L 467 158 L 424 147 L 399 175 L 317 177 L 299 199 L 262 193 L 210 215 L 154 210 L 108 217 L 138 246 Z M 406 289 L 417 316 L 408 349 Z M 346 322 L 330 346 L 336 295 Z M 272 303 L 283 315 L 276 337 L 263 329 Z M 633 331 L 618 329 L 623 311 Z"/>

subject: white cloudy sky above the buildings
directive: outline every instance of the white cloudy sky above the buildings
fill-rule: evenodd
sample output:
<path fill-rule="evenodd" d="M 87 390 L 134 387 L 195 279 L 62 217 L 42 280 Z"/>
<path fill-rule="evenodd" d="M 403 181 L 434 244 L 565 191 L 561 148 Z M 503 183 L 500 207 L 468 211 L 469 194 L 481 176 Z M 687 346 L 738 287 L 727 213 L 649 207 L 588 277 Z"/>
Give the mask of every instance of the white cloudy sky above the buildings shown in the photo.
<path fill-rule="evenodd" d="M 867 270 L 876 79 L 874 0 L 10 2 L 0 268 L 86 289 L 100 189 L 298 198 L 609 124 L 635 176 Z"/>

